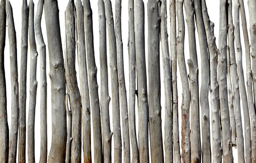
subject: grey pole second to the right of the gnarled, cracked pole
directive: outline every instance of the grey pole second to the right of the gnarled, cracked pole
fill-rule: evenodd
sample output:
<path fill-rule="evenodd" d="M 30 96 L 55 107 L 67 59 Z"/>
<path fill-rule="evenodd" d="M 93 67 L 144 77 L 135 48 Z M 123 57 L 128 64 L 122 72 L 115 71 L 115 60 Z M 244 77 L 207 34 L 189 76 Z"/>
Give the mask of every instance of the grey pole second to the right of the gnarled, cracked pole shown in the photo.
<path fill-rule="evenodd" d="M 92 113 L 92 126 L 94 138 L 94 162 L 101 163 L 103 161 L 102 149 L 102 132 L 101 132 L 101 118 L 100 106 L 97 84 L 97 67 L 94 56 L 93 45 L 93 25 L 92 25 L 92 11 L 90 7 L 90 0 L 83 0 L 84 7 L 84 24 L 85 24 L 85 42 L 86 42 L 86 57 L 88 68 L 88 80 L 90 89 L 90 107 Z"/>

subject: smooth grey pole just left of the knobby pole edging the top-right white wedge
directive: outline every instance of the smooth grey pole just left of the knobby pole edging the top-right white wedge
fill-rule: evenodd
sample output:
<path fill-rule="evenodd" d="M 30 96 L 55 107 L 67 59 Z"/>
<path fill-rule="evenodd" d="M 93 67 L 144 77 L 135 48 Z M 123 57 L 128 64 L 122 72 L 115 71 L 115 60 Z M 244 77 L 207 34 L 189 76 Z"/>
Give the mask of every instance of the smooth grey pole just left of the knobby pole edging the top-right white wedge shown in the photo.
<path fill-rule="evenodd" d="M 194 14 L 196 20 L 197 33 L 199 38 L 201 53 L 201 129 L 202 129 L 202 162 L 211 162 L 211 142 L 210 142 L 210 109 L 209 109 L 209 85 L 210 66 L 206 41 L 206 33 L 202 16 L 201 0 L 194 0 Z"/>

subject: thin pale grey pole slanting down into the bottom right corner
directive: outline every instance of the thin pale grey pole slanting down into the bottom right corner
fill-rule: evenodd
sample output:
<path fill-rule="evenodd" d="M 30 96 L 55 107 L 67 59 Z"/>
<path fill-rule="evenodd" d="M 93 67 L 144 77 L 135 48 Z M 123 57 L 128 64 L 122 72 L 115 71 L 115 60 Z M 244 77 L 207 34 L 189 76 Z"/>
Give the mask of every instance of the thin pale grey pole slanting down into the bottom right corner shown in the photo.
<path fill-rule="evenodd" d="M 245 45 L 245 60 L 246 60 L 246 74 L 247 74 L 247 97 L 250 111 L 250 122 L 251 122 L 251 162 L 256 163 L 256 113 L 253 101 L 253 90 L 252 90 L 252 74 L 251 74 L 251 58 L 250 58 L 250 43 L 247 30 L 247 22 L 245 16 L 245 9 L 243 0 L 240 2 L 240 14 L 242 20 L 242 31 Z"/>

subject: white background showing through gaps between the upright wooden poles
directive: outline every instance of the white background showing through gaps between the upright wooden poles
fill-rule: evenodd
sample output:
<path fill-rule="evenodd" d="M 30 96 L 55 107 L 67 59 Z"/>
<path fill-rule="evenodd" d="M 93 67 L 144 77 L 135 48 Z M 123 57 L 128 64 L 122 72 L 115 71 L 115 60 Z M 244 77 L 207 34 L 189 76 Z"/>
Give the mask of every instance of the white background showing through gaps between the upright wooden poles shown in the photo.
<path fill-rule="evenodd" d="M 18 54 L 18 73 L 19 73 L 19 79 L 20 79 L 20 60 L 21 60 L 21 5 L 22 0 L 10 0 L 13 12 L 14 12 L 14 24 L 16 29 L 16 37 L 17 37 L 17 54 Z M 37 2 L 38 0 L 34 0 L 35 3 L 35 13 L 37 10 Z M 145 3 L 145 52 L 146 52 L 146 62 L 147 62 L 147 13 L 146 13 L 146 2 L 147 0 L 144 0 Z M 29 3 L 29 1 L 28 1 Z M 95 50 L 95 59 L 96 59 L 96 65 L 98 68 L 97 73 L 97 82 L 100 86 L 100 65 L 99 65 L 99 35 L 98 35 L 98 14 L 97 14 L 97 0 L 91 0 L 91 8 L 93 12 L 93 32 L 94 32 L 94 50 Z M 135 0 L 136 3 L 136 0 Z M 208 6 L 208 14 L 210 17 L 210 20 L 214 22 L 214 34 L 216 37 L 216 45 L 218 46 L 218 31 L 219 31 L 219 1 L 218 0 L 206 0 L 207 6 Z M 64 38 L 65 38 L 65 21 L 64 21 L 64 12 L 65 8 L 68 4 L 68 0 L 59 0 L 59 17 L 60 17 L 60 27 L 61 27 L 61 35 L 62 35 L 62 48 L 64 51 Z M 248 5 L 247 0 L 244 1 L 244 6 L 247 14 L 247 24 L 249 24 L 249 15 L 248 15 Z M 115 15 L 115 2 L 112 0 L 112 8 L 113 8 L 113 14 Z M 168 27 L 168 33 L 170 31 L 170 17 L 169 17 L 169 0 L 167 0 L 167 27 Z M 114 16 L 115 18 L 115 16 Z M 186 14 L 184 11 L 184 18 L 186 18 Z M 241 23 L 240 23 L 241 24 Z M 186 28 L 186 34 L 185 34 L 185 60 L 187 62 L 187 59 L 189 59 L 189 50 L 188 50 L 188 37 L 187 37 L 187 24 L 185 21 L 185 28 Z M 199 42 L 198 42 L 198 35 L 196 32 L 196 44 L 197 44 L 197 55 L 198 55 L 198 64 L 199 64 L 199 84 L 201 86 L 201 58 L 200 58 L 200 49 L 199 49 Z M 248 26 L 248 32 L 249 32 L 249 26 Z M 44 41 L 47 48 L 47 37 L 46 37 L 46 27 L 45 27 L 45 17 L 44 13 L 42 16 L 42 33 L 44 37 Z M 242 35 L 242 28 L 241 28 L 241 42 L 242 42 L 242 52 L 243 52 L 243 68 L 245 71 L 245 54 L 244 54 L 244 43 L 243 43 L 243 35 Z M 123 47 L 124 47 L 124 68 L 125 68 L 125 85 L 126 85 L 126 91 L 127 91 L 127 97 L 129 95 L 129 57 L 128 57 L 128 0 L 122 1 L 122 38 L 123 38 Z M 170 42 L 169 42 L 170 44 Z M 28 44 L 29 45 L 29 44 Z M 161 48 L 160 48 L 161 49 Z M 50 80 L 48 77 L 49 73 L 49 61 L 48 61 L 48 48 L 47 48 L 47 82 L 48 82 L 48 103 L 47 103 L 47 120 L 48 120 L 48 152 L 50 150 L 51 145 L 51 99 L 50 99 Z M 161 52 L 161 51 L 160 51 Z M 109 58 L 108 58 L 109 59 Z M 76 59 L 77 61 L 77 59 Z M 26 109 L 26 120 L 28 120 L 28 102 L 29 102 L 29 62 L 30 62 L 30 52 L 28 47 L 28 69 L 27 69 L 27 109 Z M 6 37 L 6 48 L 5 48 L 5 71 L 6 71 L 6 81 L 7 81 L 7 114 L 8 114 L 8 122 L 9 122 L 9 129 L 10 129 L 10 122 L 11 122 L 11 85 L 10 85 L 10 61 L 9 61 L 9 42 L 8 42 L 8 36 Z M 37 68 L 39 68 L 39 57 L 37 62 Z M 146 63 L 147 64 L 147 63 Z M 77 63 L 76 63 L 77 65 Z M 187 65 L 187 64 L 186 64 Z M 162 58 L 160 53 L 160 68 L 161 68 L 161 106 L 162 106 L 162 132 L 164 136 L 164 115 L 165 115 L 165 102 L 164 102 L 164 83 L 163 83 L 163 71 L 162 71 Z M 76 66 L 76 71 L 78 74 L 78 66 Z M 187 68 L 188 72 L 188 68 Z M 244 72 L 245 74 L 245 72 Z M 77 75 L 77 78 L 79 79 L 79 75 Z M 246 76 L 245 76 L 246 79 Z M 40 158 L 40 72 L 37 71 L 37 81 L 38 81 L 38 87 L 37 87 L 37 102 L 36 102 L 36 110 L 35 110 L 35 161 L 39 162 Z M 79 86 L 79 80 L 78 86 Z M 109 92 L 111 97 L 111 86 L 110 86 L 110 75 L 109 75 Z M 179 66 L 177 64 L 177 84 L 178 84 L 178 95 L 179 95 L 179 127 L 181 129 L 181 99 L 182 99 L 182 87 L 181 87 L 181 81 L 180 81 L 180 71 Z M 199 86 L 199 87 L 200 87 Z M 99 93 L 100 93 L 100 87 L 99 87 Z M 100 95 L 100 94 L 99 94 Z M 210 96 L 210 95 L 209 95 Z M 100 97 L 100 96 L 99 96 Z M 210 103 L 209 103 L 210 104 Z M 137 102 L 136 102 L 137 106 Z M 242 109 L 242 107 L 241 107 Z M 201 111 L 200 111 L 201 112 Z M 210 112 L 211 113 L 211 112 Z M 201 113 L 200 113 L 201 114 Z M 211 115 L 210 115 L 211 116 Z M 138 110 L 136 109 L 136 127 L 138 131 Z M 210 119 L 211 120 L 211 119 Z M 242 116 L 243 121 L 243 116 Z M 112 130 L 112 109 L 111 109 L 111 102 L 110 102 L 110 122 L 111 122 L 111 130 Z M 92 123 L 91 123 L 92 124 Z M 121 125 L 122 126 L 122 125 Z M 210 121 L 211 126 L 211 121 Z M 93 132 L 91 131 L 91 134 Z M 212 133 L 212 132 L 211 132 Z M 138 134 L 138 133 L 137 133 Z M 93 135 L 92 137 L 92 143 L 93 143 Z M 138 135 L 137 135 L 138 138 Z M 164 139 L 163 139 L 164 140 Z M 181 140 L 181 135 L 180 135 Z M 29 140 L 27 140 L 28 143 Z M 211 139 L 212 142 L 212 139 Z M 149 143 L 150 144 L 150 143 Z M 112 160 L 113 160 L 113 139 L 112 139 Z M 17 149 L 18 152 L 18 149 Z M 237 162 L 237 150 L 233 148 L 233 156 L 234 156 L 234 162 Z M 83 157 L 83 150 L 82 150 L 82 157 Z M 26 153 L 26 158 L 28 158 L 28 155 Z M 93 158 L 93 145 L 92 145 L 92 158 Z"/>

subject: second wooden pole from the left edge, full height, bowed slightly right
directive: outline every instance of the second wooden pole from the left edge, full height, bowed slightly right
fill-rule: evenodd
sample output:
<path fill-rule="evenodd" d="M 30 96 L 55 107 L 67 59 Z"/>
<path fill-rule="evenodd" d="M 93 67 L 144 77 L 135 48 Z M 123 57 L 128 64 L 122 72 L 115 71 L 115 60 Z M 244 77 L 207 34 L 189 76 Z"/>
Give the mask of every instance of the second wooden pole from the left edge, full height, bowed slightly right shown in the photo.
<path fill-rule="evenodd" d="M 8 163 L 16 163 L 18 128 L 19 128 L 19 83 L 18 83 L 18 66 L 17 66 L 17 41 L 14 26 L 13 9 L 9 2 L 6 1 L 8 39 L 10 48 L 10 74 L 11 74 L 11 130 L 9 140 Z"/>

